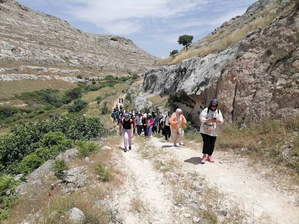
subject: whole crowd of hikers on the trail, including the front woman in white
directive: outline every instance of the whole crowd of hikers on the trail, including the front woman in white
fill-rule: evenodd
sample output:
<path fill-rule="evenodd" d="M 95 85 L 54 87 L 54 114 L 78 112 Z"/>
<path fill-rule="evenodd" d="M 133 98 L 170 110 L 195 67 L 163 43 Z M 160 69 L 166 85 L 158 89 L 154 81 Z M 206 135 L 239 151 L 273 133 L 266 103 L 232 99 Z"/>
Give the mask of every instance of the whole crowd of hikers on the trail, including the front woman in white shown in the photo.
<path fill-rule="evenodd" d="M 214 162 L 212 154 L 215 147 L 219 125 L 223 123 L 222 113 L 218 108 L 217 99 L 212 99 L 210 105 L 205 108 L 199 116 L 201 123 L 200 134 L 203 139 L 202 163 L 206 161 Z M 122 108 L 115 108 L 115 116 L 118 117 L 119 135 L 124 136 L 124 152 L 132 150 L 132 138 L 135 130 L 137 134 L 151 138 L 153 133 L 162 134 L 165 141 L 169 142 L 170 137 L 173 146 L 184 146 L 184 128 L 187 128 L 187 120 L 181 109 L 176 109 L 174 113 L 167 111 L 157 115 L 157 113 L 148 111 L 122 111 Z"/>

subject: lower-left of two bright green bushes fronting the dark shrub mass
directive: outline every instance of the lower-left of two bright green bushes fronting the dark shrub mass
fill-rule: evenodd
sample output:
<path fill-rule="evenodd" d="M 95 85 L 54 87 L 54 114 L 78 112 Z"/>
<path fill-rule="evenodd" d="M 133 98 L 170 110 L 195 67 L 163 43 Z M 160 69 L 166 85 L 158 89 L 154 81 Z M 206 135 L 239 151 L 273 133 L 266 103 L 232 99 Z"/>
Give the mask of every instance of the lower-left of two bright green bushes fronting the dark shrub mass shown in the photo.
<path fill-rule="evenodd" d="M 19 171 L 22 174 L 28 174 L 42 165 L 45 160 L 39 158 L 35 153 L 25 156 L 19 164 Z"/>

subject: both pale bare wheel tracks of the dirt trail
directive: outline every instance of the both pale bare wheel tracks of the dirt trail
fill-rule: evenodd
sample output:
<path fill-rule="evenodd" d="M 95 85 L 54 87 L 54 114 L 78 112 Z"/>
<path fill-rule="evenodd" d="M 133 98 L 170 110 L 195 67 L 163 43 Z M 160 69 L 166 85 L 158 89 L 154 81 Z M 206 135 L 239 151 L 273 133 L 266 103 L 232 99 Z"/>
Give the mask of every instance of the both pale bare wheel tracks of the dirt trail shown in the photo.
<path fill-rule="evenodd" d="M 122 97 L 125 98 L 125 95 Z M 123 169 L 128 176 L 122 191 L 124 193 L 119 195 L 118 201 L 127 216 L 125 223 L 176 223 L 172 222 L 172 211 L 176 206 L 170 197 L 170 189 L 163 184 L 163 174 L 156 171 L 150 161 L 141 160 L 140 154 L 135 151 L 138 143 L 136 139 L 133 138 L 132 151 L 123 153 L 122 157 Z M 245 211 L 254 215 L 255 223 L 299 223 L 299 209 L 295 206 L 296 194 L 277 189 L 261 174 L 248 168 L 245 162 L 219 163 L 222 154 L 215 151 L 214 163 L 201 164 L 201 150 L 173 147 L 172 143 L 167 143 L 162 138 L 152 137 L 151 142 L 158 148 L 173 152 L 183 163 L 183 173 L 196 171 L 229 198 L 243 202 Z M 123 148 L 123 143 L 120 146 Z M 146 215 L 130 209 L 130 203 L 135 198 L 144 202 Z M 177 223 L 186 223 L 182 220 Z"/>

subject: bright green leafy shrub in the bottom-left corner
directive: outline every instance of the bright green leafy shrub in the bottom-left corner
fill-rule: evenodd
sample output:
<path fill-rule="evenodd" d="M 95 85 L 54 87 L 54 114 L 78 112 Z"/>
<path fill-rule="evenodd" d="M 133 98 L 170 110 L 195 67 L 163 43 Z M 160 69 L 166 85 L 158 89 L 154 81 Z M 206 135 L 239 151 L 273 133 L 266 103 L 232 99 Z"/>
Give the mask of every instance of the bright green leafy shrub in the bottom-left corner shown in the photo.
<path fill-rule="evenodd" d="M 0 177 L 0 223 L 2 220 L 7 219 L 10 213 L 10 208 L 13 202 L 18 200 L 16 193 L 16 187 L 20 184 L 20 181 L 14 181 L 13 176 L 4 175 Z"/>

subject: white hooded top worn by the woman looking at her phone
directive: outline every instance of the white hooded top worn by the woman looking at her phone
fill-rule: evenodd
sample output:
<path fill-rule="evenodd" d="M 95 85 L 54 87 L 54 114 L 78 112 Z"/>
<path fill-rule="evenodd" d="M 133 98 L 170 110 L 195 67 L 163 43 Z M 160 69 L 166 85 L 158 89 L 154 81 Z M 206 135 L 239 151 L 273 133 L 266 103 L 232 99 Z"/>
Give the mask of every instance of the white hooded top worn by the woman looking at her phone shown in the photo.
<path fill-rule="evenodd" d="M 213 123 L 213 122 L 207 122 L 208 121 L 207 118 L 208 119 L 217 118 L 218 120 L 221 121 L 221 123 L 218 124 L 218 123 Z M 216 109 L 215 111 L 211 111 L 210 110 L 209 113 L 208 113 L 208 108 L 205 108 L 202 111 L 202 113 L 200 113 L 199 119 L 202 122 L 202 124 L 200 125 L 200 133 L 207 134 L 207 135 L 210 135 L 210 136 L 217 136 L 218 135 L 218 133 L 219 133 L 219 125 L 223 124 L 223 117 L 222 117 L 222 113 L 221 113 L 220 110 L 219 110 L 219 114 L 218 114 L 218 109 Z M 203 130 L 203 128 L 202 128 L 204 126 L 204 123 L 209 124 L 209 125 L 214 124 L 215 131 L 213 131 L 212 133 L 205 132 Z"/>

